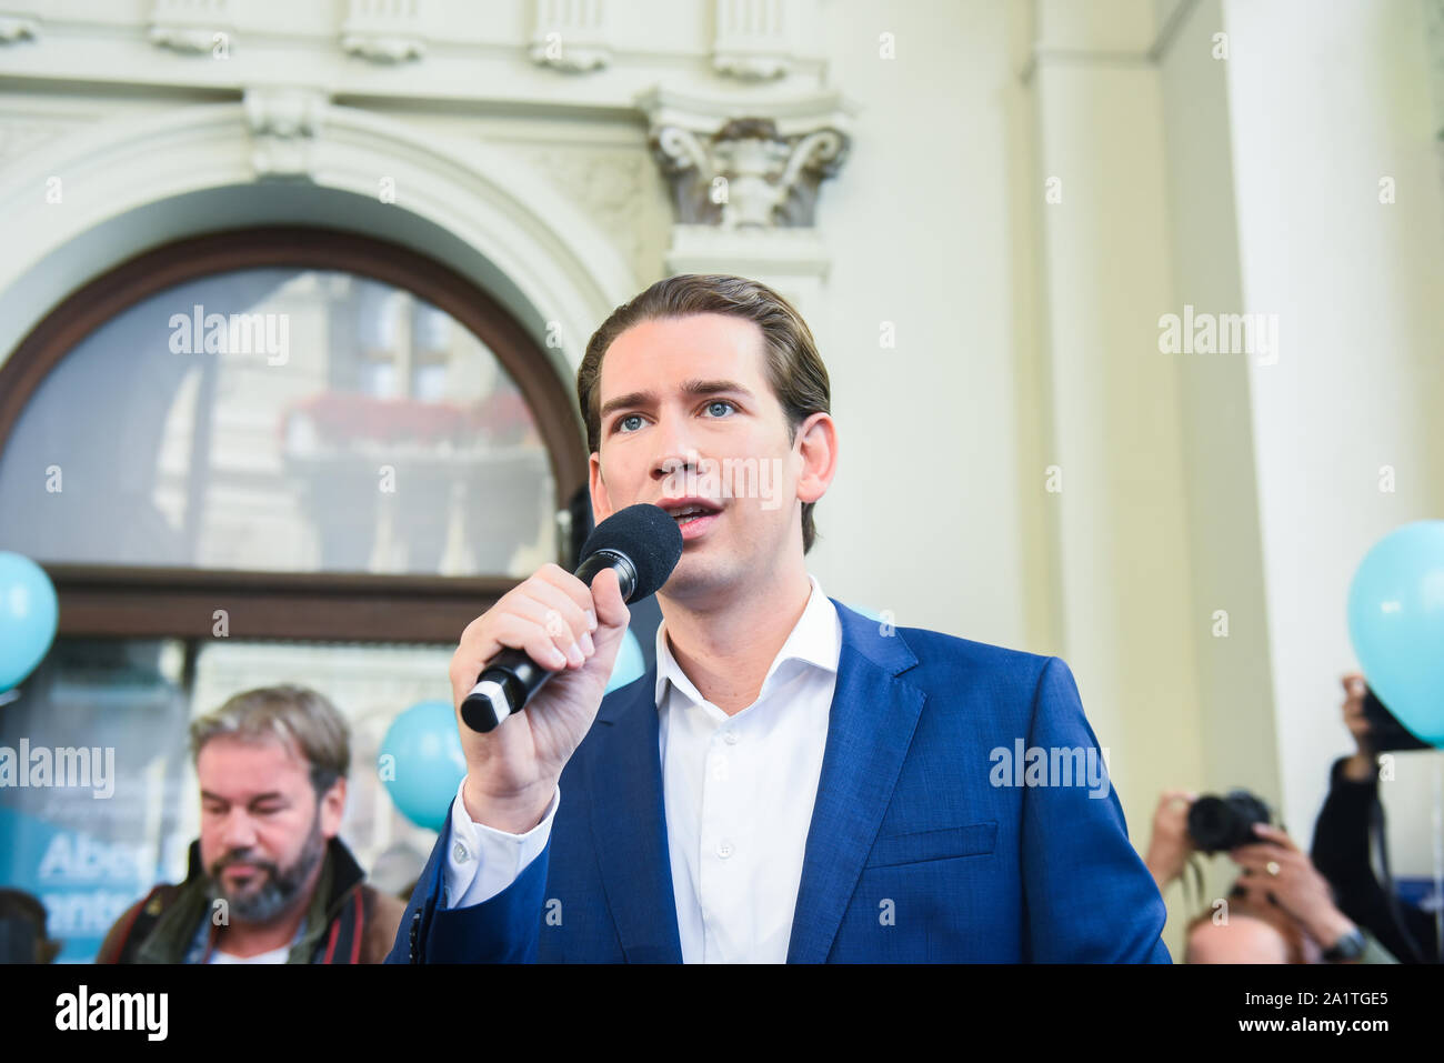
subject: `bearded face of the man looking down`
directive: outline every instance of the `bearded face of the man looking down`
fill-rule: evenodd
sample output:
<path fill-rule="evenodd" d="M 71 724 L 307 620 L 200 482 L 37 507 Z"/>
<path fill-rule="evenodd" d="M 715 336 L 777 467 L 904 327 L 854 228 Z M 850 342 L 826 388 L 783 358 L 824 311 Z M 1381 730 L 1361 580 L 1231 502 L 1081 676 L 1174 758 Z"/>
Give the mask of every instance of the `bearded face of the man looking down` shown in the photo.
<path fill-rule="evenodd" d="M 295 750 L 235 738 L 208 741 L 196 774 L 211 895 L 243 923 L 266 923 L 305 900 L 300 893 L 341 826 L 345 780 L 318 802 Z"/>

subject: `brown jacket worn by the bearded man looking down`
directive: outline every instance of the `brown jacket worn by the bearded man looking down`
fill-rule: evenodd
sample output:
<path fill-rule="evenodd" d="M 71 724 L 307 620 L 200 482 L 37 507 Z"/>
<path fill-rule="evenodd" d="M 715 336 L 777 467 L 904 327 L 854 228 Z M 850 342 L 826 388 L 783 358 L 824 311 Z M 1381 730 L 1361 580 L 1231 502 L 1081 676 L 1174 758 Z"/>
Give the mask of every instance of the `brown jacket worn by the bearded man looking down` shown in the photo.
<path fill-rule="evenodd" d="M 380 963 L 386 959 L 404 904 L 362 882 L 364 874 L 339 838 L 326 846 L 300 939 L 287 963 Z M 211 914 L 201 842 L 180 885 L 162 884 L 136 901 L 105 934 L 97 963 L 182 963 Z M 211 927 L 211 945 L 219 927 Z"/>

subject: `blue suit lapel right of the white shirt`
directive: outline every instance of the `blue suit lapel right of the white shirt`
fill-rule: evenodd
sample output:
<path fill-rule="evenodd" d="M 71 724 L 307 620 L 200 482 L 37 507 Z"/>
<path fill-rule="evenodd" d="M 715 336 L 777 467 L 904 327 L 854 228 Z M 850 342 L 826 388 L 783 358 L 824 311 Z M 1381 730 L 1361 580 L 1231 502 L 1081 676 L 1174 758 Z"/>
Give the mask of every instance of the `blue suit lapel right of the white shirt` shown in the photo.
<path fill-rule="evenodd" d="M 788 963 L 822 963 L 887 813 L 926 695 L 897 679 L 917 657 L 895 633 L 836 599 L 838 685 L 793 911 Z"/>

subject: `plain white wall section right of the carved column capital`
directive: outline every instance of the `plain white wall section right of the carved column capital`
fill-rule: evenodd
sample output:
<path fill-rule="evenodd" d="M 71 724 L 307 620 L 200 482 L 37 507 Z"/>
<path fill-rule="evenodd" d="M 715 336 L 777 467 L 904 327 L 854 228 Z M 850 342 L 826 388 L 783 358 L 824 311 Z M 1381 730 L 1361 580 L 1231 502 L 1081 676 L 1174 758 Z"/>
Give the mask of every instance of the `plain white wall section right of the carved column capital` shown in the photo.
<path fill-rule="evenodd" d="M 1015 248 L 1008 208 L 1005 4 L 829 4 L 830 77 L 862 105 L 819 211 L 833 263 L 823 344 L 839 471 L 809 563 L 901 625 L 1034 647 L 1021 588 Z M 878 55 L 892 33 L 897 58 Z M 882 322 L 897 347 L 882 348 Z M 1040 410 L 1031 410 L 1028 432 Z"/>

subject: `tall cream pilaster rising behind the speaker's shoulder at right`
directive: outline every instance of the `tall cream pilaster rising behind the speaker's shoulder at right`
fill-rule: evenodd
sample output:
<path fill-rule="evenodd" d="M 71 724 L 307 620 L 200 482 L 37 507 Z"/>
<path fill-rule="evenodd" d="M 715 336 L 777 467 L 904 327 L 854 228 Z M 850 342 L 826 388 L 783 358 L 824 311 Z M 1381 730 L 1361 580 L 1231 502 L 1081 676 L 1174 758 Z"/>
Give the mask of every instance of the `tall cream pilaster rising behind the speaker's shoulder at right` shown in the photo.
<path fill-rule="evenodd" d="M 1134 843 L 1164 789 L 1201 776 L 1187 480 L 1177 360 L 1164 95 L 1151 4 L 1038 6 L 1024 68 L 1038 110 L 1048 495 L 1060 651 L 1110 747 Z M 1177 911 L 1174 913 L 1177 916 Z M 1165 937 L 1180 952 L 1181 939 Z"/>

